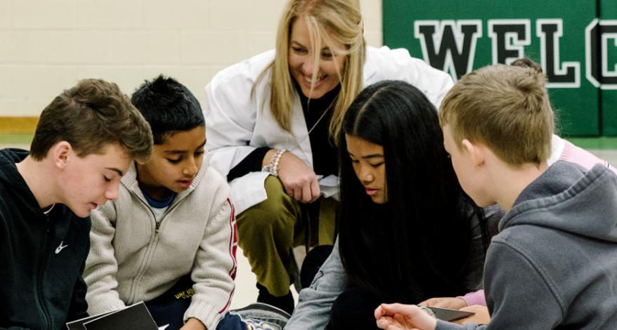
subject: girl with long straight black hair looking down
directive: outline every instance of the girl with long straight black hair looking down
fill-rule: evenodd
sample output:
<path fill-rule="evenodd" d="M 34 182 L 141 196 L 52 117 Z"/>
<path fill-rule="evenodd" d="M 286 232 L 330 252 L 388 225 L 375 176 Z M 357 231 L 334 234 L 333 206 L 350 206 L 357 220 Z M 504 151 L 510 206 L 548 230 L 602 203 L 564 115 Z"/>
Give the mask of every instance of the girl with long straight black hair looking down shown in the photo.
<path fill-rule="evenodd" d="M 376 329 L 384 301 L 481 284 L 483 211 L 457 182 L 434 106 L 414 86 L 365 88 L 339 133 L 339 237 L 285 329 Z"/>

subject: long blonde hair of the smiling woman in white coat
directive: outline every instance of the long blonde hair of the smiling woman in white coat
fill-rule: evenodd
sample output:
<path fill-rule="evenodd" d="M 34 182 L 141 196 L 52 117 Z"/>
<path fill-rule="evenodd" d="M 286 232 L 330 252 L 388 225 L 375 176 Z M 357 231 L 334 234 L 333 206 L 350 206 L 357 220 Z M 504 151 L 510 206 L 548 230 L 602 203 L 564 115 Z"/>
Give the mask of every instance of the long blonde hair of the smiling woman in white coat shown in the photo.
<path fill-rule="evenodd" d="M 276 34 L 276 55 L 261 72 L 257 82 L 271 70 L 270 109 L 279 126 L 291 131 L 291 115 L 296 93 L 289 68 L 290 37 L 293 23 L 304 18 L 313 43 L 313 54 L 321 53 L 320 40 L 327 46 L 338 41 L 346 49 L 333 49 L 333 54 L 346 55 L 339 81 L 341 90 L 334 105 L 330 121 L 330 136 L 336 137 L 349 105 L 363 88 L 363 66 L 366 57 L 366 41 L 363 35 L 363 20 L 358 0 L 289 0 L 283 9 Z M 328 42 L 327 37 L 333 40 Z M 316 56 L 316 67 L 320 58 Z"/>

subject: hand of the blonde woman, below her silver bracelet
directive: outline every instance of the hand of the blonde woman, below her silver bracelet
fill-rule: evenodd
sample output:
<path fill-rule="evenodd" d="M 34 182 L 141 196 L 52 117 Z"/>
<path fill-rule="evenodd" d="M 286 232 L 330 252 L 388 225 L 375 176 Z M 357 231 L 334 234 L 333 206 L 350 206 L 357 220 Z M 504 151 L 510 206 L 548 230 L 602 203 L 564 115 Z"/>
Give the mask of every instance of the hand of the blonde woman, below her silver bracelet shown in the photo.
<path fill-rule="evenodd" d="M 291 152 L 284 152 L 280 157 L 278 178 L 285 192 L 298 202 L 312 203 L 319 198 L 321 192 L 315 172 Z"/>

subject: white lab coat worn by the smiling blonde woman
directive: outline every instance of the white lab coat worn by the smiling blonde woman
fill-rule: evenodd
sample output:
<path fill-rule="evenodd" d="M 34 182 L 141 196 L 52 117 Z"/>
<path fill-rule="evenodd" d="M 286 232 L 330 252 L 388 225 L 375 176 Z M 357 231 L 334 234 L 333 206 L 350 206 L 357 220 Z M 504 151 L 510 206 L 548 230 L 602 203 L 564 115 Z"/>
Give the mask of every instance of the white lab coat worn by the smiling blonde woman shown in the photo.
<path fill-rule="evenodd" d="M 270 112 L 270 72 L 251 95 L 254 81 L 274 55 L 273 50 L 267 51 L 227 67 L 205 87 L 206 146 L 212 152 L 212 166 L 223 176 L 256 147 L 285 148 L 313 167 L 299 95 L 293 101 L 293 134 L 280 128 Z M 366 55 L 364 86 L 385 79 L 407 81 L 424 92 L 436 107 L 453 86 L 448 74 L 412 58 L 406 49 L 368 47 Z M 230 183 L 236 214 L 267 198 L 267 176 L 267 172 L 252 172 Z"/>

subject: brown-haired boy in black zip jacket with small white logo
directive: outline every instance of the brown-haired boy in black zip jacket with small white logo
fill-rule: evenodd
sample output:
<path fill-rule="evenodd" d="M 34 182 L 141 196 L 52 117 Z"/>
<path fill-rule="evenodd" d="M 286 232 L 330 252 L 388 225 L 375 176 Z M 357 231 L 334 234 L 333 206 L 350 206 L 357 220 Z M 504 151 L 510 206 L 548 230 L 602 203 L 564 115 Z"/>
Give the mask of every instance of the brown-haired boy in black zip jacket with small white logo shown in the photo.
<path fill-rule="evenodd" d="M 116 84 L 86 79 L 41 113 L 30 153 L 0 150 L 0 329 L 86 317 L 91 209 L 118 196 L 150 126 Z"/>

